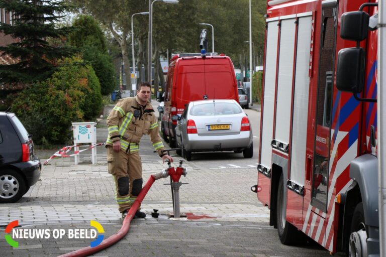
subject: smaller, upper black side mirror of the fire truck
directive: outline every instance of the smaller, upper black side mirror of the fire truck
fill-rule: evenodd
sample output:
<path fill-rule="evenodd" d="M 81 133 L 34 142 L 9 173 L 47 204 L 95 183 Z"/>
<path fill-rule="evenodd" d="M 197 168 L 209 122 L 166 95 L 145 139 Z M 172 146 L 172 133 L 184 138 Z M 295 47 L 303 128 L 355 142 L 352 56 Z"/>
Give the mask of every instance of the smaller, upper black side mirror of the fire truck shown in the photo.
<path fill-rule="evenodd" d="M 369 15 L 363 11 L 347 12 L 342 15 L 340 37 L 362 41 L 367 38 Z"/>

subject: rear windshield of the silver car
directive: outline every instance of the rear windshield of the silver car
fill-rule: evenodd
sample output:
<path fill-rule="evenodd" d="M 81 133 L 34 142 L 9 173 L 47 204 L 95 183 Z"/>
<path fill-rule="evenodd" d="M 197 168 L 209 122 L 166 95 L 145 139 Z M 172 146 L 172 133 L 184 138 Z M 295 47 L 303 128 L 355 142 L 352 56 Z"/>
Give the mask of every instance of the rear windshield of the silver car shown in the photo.
<path fill-rule="evenodd" d="M 190 115 L 194 116 L 210 116 L 210 115 L 229 115 L 238 114 L 243 110 L 238 104 L 221 102 L 221 103 L 204 103 L 192 106 Z"/>

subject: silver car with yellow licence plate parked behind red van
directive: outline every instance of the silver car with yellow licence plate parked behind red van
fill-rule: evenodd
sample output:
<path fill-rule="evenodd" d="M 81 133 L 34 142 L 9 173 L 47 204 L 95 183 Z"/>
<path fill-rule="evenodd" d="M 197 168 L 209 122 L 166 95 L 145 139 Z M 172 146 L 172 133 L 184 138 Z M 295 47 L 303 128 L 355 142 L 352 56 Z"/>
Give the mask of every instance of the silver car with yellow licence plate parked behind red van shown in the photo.
<path fill-rule="evenodd" d="M 191 160 L 192 152 L 234 151 L 253 157 L 252 129 L 249 119 L 233 99 L 190 102 L 176 126 L 177 154 Z"/>

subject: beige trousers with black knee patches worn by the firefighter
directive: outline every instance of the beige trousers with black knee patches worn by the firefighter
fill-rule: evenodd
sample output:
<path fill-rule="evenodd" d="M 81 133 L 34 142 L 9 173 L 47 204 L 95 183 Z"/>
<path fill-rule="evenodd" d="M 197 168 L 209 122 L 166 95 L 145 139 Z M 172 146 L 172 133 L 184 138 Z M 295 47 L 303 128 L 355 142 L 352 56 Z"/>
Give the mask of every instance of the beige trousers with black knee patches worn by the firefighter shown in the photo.
<path fill-rule="evenodd" d="M 108 171 L 113 175 L 118 209 L 123 212 L 131 207 L 142 189 L 142 162 L 139 151 L 119 153 L 107 147 Z M 138 208 L 140 209 L 140 208 Z"/>

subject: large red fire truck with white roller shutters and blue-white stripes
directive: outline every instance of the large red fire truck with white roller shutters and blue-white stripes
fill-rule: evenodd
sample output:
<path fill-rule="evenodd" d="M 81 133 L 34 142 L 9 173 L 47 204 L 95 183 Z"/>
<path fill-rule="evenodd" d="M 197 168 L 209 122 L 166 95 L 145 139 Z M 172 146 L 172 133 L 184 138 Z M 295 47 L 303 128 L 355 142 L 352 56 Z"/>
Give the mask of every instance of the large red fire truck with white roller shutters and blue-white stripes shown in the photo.
<path fill-rule="evenodd" d="M 378 3 L 268 0 L 265 17 L 251 189 L 282 243 L 304 233 L 331 253 L 379 256 Z"/>

